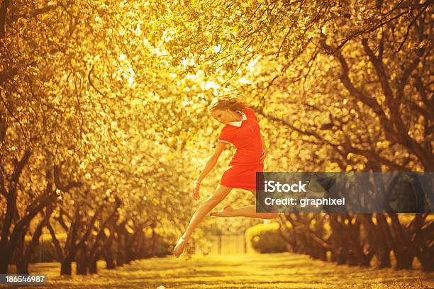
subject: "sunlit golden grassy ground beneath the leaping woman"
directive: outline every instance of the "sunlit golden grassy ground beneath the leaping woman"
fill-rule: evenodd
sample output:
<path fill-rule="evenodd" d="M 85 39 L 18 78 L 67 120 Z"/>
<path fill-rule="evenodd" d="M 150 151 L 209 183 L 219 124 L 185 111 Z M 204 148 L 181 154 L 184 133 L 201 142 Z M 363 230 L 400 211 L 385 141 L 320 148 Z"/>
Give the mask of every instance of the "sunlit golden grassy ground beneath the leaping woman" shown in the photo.
<path fill-rule="evenodd" d="M 55 288 L 434 288 L 434 273 L 337 266 L 300 254 L 182 256 L 137 260 L 99 274 L 59 276 L 60 263 L 37 263 Z M 74 266 L 73 266 L 74 269 Z M 44 288 L 43 286 L 26 286 Z"/>

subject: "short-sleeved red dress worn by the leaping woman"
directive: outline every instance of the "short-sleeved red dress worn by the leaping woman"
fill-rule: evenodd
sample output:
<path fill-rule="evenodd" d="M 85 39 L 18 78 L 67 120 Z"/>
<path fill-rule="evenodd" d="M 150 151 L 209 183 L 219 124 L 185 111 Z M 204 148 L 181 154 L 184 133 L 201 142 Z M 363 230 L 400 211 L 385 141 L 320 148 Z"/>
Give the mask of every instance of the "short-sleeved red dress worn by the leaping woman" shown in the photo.
<path fill-rule="evenodd" d="M 221 177 L 221 185 L 230 188 L 256 189 L 256 172 L 264 171 L 260 163 L 262 142 L 260 127 L 255 113 L 246 108 L 243 110 L 245 119 L 238 128 L 225 125 L 218 136 L 218 142 L 230 142 L 237 151 L 230 160 L 228 169 Z"/>

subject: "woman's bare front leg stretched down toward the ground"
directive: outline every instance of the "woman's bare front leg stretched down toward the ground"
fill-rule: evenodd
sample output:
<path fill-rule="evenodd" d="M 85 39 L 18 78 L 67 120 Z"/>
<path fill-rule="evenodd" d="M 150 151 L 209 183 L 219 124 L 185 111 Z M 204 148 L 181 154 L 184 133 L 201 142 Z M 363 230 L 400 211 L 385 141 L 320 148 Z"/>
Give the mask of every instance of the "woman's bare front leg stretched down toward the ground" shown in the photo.
<path fill-rule="evenodd" d="M 194 229 L 204 220 L 204 217 L 208 214 L 210 210 L 212 210 L 216 205 L 221 203 L 221 201 L 228 196 L 228 193 L 232 190 L 232 188 L 228 188 L 227 186 L 218 185 L 216 191 L 214 191 L 213 196 L 209 197 L 204 203 L 199 205 L 196 212 L 194 212 L 193 217 L 191 217 L 190 223 L 185 230 L 185 233 L 179 239 L 177 245 L 174 247 L 174 256 L 181 256 L 182 252 L 187 246 L 187 242 L 189 241 L 191 234 Z"/>

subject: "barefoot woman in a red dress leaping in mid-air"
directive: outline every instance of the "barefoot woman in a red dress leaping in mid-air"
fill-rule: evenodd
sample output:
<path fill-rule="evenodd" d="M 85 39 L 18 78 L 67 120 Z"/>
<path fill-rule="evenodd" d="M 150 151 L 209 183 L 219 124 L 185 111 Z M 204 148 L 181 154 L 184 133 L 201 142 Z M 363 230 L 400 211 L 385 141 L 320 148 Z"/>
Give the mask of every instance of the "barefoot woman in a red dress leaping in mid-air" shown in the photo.
<path fill-rule="evenodd" d="M 216 165 L 218 157 L 228 144 L 235 145 L 236 152 L 229 163 L 228 169 L 223 173 L 219 186 L 191 217 L 190 223 L 174 247 L 174 256 L 181 256 L 189 241 L 191 234 L 204 217 L 218 203 L 228 196 L 233 188 L 243 188 L 256 196 L 256 172 L 264 170 L 264 159 L 267 156 L 265 142 L 260 133 L 257 117 L 245 101 L 235 96 L 222 96 L 215 98 L 208 111 L 211 116 L 225 125 L 218 136 L 216 149 L 208 159 L 204 170 L 194 182 L 193 198 L 199 200 L 201 181 Z M 230 205 L 218 212 L 211 212 L 216 217 L 257 217 L 272 219 L 277 213 L 258 213 L 255 205 L 233 209 Z"/>

